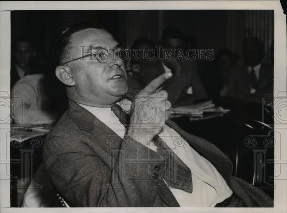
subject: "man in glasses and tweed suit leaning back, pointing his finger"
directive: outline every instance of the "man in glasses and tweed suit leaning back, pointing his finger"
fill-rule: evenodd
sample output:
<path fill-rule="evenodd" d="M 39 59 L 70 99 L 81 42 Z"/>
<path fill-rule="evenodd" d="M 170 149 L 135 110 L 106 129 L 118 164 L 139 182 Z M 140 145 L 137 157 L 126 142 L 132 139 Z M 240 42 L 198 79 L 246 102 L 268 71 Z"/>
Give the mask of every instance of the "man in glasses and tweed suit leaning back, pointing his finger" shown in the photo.
<path fill-rule="evenodd" d="M 83 46 L 92 52 L 83 55 Z M 171 72 L 125 95 L 131 101 L 121 98 L 128 85 L 117 52 L 113 36 L 96 24 L 58 38 L 56 75 L 67 86 L 69 109 L 46 136 L 43 160 L 70 206 L 273 205 L 263 191 L 244 190 L 248 183 L 231 176 L 232 163 L 218 148 L 168 119 L 168 94 L 158 87 Z"/>

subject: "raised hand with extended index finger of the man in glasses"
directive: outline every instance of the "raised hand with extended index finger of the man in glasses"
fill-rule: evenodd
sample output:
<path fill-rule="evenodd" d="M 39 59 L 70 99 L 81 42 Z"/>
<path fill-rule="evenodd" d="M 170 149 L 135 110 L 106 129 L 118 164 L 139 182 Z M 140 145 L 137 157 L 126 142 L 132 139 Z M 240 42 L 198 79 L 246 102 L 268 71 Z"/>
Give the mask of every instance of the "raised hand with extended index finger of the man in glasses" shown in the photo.
<path fill-rule="evenodd" d="M 170 72 L 163 73 L 152 80 L 150 84 L 136 94 L 131 102 L 131 126 L 128 128 L 127 135 L 146 146 L 161 131 L 166 120 L 170 117 L 168 110 L 171 104 L 167 100 L 168 94 L 158 87 L 171 76 L 172 73 Z"/>

